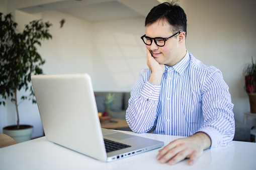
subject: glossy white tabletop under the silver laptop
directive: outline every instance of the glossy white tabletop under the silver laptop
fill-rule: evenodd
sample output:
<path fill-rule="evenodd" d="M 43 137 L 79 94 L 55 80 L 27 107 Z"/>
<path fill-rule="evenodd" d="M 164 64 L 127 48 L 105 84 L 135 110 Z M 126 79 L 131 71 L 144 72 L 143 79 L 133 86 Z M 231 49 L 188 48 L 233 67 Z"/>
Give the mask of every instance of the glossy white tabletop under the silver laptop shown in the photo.
<path fill-rule="evenodd" d="M 123 131 L 125 132 L 125 131 Z M 180 138 L 159 134 L 137 134 L 164 141 L 164 145 Z M 68 136 L 67 136 L 68 137 Z M 0 169 L 256 169 L 256 143 L 231 141 L 227 146 L 205 150 L 193 166 L 184 160 L 170 166 L 156 160 L 158 149 L 120 159 L 101 162 L 94 158 L 49 142 L 45 137 L 0 149 Z"/>

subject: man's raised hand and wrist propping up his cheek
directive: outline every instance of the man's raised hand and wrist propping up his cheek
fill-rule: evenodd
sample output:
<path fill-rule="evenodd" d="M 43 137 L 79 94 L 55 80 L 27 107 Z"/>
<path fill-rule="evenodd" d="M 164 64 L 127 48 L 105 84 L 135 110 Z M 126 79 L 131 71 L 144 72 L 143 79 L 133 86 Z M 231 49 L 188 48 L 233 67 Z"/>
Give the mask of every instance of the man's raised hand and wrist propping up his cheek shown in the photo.
<path fill-rule="evenodd" d="M 153 84 L 160 84 L 162 79 L 162 74 L 165 71 L 165 66 L 159 64 L 154 57 L 152 57 L 150 51 L 147 49 L 147 66 L 151 70 L 151 75 L 148 79 L 149 82 Z"/>

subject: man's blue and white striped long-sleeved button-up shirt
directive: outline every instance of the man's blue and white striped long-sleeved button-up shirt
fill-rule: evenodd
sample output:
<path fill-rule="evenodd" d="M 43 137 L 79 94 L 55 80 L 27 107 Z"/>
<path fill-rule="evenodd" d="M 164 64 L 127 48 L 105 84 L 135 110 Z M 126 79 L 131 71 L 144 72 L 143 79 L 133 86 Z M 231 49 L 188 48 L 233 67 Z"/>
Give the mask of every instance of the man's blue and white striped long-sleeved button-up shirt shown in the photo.
<path fill-rule="evenodd" d="M 131 88 L 126 120 L 134 132 L 191 136 L 201 131 L 210 136 L 211 147 L 233 139 L 233 104 L 220 70 L 187 52 L 175 66 L 165 66 L 160 85 L 148 81 L 150 74 L 140 71 Z"/>

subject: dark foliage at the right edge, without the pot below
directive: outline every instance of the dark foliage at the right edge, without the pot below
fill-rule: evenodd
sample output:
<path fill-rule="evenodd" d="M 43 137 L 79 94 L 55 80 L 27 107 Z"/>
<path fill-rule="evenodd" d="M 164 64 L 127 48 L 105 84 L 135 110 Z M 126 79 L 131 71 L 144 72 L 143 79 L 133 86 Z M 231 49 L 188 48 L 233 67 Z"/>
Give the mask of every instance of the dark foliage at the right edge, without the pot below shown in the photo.
<path fill-rule="evenodd" d="M 243 70 L 245 76 L 245 89 L 247 93 L 256 93 L 256 60 L 253 63 L 253 58 L 251 57 L 251 63 Z"/>

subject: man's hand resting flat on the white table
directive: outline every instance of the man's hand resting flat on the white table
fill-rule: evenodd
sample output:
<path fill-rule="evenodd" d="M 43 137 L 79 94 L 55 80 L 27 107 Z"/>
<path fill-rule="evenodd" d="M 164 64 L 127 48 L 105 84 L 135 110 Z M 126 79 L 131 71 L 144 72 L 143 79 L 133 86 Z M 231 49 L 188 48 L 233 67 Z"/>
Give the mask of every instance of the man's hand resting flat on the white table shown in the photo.
<path fill-rule="evenodd" d="M 197 132 L 190 137 L 170 142 L 163 149 L 159 150 L 156 158 L 161 163 L 168 162 L 170 165 L 189 158 L 189 165 L 193 165 L 196 159 L 203 154 L 203 151 L 210 146 L 210 137 L 204 132 Z"/>

